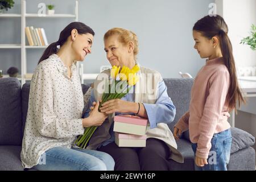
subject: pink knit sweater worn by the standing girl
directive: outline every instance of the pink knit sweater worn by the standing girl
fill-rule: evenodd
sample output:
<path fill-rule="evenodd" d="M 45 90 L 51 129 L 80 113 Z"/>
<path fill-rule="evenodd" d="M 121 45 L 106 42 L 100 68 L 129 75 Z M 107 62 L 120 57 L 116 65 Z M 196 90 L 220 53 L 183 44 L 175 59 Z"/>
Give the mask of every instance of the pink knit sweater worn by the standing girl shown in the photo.
<path fill-rule="evenodd" d="M 230 128 L 226 100 L 229 85 L 230 75 L 222 57 L 207 60 L 192 86 L 189 111 L 175 125 L 181 131 L 189 129 L 191 142 L 197 143 L 199 158 L 208 158 L 213 134 Z"/>

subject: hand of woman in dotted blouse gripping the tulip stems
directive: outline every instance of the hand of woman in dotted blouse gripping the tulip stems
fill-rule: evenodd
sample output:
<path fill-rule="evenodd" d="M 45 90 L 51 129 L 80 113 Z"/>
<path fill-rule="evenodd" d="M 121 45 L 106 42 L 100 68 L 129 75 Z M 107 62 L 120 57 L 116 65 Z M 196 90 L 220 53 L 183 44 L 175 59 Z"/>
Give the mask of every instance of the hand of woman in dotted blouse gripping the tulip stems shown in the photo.
<path fill-rule="evenodd" d="M 100 106 L 100 102 L 97 101 L 93 110 L 90 111 L 89 117 L 83 119 L 83 127 L 101 126 L 105 119 L 108 118 L 108 114 L 100 113 L 98 111 L 98 106 Z"/>

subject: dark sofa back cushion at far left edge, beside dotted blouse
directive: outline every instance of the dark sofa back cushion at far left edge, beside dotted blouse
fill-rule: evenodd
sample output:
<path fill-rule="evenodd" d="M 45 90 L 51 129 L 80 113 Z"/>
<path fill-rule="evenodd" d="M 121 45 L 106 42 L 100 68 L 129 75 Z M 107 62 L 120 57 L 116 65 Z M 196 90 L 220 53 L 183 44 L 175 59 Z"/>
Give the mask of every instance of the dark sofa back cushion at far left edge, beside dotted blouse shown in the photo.
<path fill-rule="evenodd" d="M 21 145 L 22 108 L 17 78 L 0 78 L 0 118 L 0 144 Z"/>

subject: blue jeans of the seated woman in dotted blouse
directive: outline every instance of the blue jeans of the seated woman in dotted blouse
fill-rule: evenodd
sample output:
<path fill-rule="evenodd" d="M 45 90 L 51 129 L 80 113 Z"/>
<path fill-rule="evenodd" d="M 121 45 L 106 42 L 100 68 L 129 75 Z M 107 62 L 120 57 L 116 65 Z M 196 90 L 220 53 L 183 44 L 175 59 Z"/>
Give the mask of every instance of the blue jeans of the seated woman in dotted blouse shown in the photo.
<path fill-rule="evenodd" d="M 54 147 L 47 150 L 39 164 L 40 171 L 113 171 L 114 159 L 105 152 L 80 148 Z"/>

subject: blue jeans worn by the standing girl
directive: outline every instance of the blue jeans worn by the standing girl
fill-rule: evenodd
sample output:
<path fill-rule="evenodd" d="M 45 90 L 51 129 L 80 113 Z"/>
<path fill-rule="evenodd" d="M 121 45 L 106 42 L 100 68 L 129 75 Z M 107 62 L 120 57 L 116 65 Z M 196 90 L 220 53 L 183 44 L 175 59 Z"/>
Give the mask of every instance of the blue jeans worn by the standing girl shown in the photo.
<path fill-rule="evenodd" d="M 207 159 L 208 164 L 204 167 L 196 166 L 196 171 L 227 171 L 227 165 L 230 159 L 230 150 L 232 144 L 232 135 L 230 129 L 213 135 Z M 197 143 L 191 143 L 192 149 L 196 154 Z"/>

